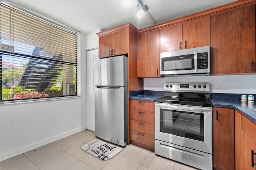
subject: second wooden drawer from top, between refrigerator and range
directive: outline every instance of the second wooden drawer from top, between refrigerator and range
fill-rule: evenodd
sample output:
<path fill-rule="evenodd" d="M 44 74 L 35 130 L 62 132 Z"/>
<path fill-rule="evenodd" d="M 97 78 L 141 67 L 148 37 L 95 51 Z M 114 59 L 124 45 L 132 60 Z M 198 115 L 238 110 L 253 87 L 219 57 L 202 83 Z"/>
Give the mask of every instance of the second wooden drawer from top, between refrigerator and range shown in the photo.
<path fill-rule="evenodd" d="M 130 119 L 154 124 L 154 113 L 130 109 Z"/>

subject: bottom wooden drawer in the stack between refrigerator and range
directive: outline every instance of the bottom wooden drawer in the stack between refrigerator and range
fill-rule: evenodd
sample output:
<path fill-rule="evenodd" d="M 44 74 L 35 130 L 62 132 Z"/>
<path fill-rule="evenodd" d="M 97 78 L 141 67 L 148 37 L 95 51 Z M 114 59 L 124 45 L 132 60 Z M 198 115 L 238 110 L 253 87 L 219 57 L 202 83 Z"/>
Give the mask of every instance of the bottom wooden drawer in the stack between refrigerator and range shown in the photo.
<path fill-rule="evenodd" d="M 130 140 L 154 147 L 154 136 L 130 130 Z"/>

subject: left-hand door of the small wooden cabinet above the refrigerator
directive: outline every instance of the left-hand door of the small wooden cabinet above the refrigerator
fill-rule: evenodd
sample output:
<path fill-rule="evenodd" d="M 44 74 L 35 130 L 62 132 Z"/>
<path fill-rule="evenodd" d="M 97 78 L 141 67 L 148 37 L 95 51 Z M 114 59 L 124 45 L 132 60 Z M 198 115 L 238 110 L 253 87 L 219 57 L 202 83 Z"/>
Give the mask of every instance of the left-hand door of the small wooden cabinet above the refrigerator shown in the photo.
<path fill-rule="evenodd" d="M 112 36 L 111 34 L 99 37 L 99 58 L 108 57 L 112 54 Z"/>

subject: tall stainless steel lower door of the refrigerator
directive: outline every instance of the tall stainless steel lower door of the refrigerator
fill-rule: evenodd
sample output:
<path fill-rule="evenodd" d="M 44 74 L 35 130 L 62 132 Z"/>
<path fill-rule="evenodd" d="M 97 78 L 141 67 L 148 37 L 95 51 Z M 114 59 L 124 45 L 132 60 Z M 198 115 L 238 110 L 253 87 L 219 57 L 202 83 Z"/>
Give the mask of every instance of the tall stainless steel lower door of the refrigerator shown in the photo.
<path fill-rule="evenodd" d="M 120 146 L 127 145 L 128 109 L 125 87 L 95 90 L 95 136 Z"/>

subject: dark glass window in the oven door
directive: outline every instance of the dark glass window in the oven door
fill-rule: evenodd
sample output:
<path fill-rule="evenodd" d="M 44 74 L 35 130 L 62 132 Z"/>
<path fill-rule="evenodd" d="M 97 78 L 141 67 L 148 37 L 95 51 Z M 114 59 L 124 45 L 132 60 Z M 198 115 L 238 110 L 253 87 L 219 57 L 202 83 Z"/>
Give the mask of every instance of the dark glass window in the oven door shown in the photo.
<path fill-rule="evenodd" d="M 160 132 L 204 141 L 204 114 L 160 109 Z"/>

